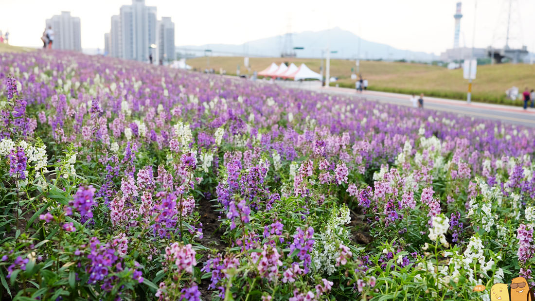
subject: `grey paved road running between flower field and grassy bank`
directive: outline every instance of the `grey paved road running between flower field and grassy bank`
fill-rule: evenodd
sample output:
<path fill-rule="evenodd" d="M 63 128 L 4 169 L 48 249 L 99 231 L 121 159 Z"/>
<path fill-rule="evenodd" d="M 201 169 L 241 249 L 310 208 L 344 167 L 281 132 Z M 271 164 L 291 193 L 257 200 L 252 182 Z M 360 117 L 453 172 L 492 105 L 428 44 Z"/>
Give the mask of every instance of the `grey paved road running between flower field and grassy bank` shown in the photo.
<path fill-rule="evenodd" d="M 297 87 L 292 86 L 292 88 Z M 404 106 L 412 105 L 409 101 L 410 96 L 404 94 L 378 91 L 363 91 L 362 94 L 357 94 L 354 89 L 334 87 L 322 88 L 312 85 L 302 86 L 299 88 L 322 91 L 328 94 L 353 95 L 355 97 L 366 98 L 369 101 L 379 101 Z M 425 109 L 459 113 L 477 118 L 500 120 L 509 124 L 535 127 L 535 109 L 531 108 L 528 108 L 528 110 L 524 111 L 522 107 L 473 102 L 468 104 L 465 101 L 454 101 L 452 99 L 435 97 L 424 97 L 424 107 Z"/>

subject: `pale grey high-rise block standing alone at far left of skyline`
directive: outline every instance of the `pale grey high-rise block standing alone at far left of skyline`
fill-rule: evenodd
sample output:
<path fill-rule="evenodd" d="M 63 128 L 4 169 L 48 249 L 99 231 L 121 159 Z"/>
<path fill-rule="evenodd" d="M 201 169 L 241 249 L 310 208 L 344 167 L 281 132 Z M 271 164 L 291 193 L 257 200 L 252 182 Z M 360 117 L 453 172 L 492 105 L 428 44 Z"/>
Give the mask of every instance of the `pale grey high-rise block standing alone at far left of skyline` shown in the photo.
<path fill-rule="evenodd" d="M 80 18 L 71 17 L 71 12 L 62 12 L 45 21 L 45 26 L 54 32 L 52 49 L 82 50 Z"/>

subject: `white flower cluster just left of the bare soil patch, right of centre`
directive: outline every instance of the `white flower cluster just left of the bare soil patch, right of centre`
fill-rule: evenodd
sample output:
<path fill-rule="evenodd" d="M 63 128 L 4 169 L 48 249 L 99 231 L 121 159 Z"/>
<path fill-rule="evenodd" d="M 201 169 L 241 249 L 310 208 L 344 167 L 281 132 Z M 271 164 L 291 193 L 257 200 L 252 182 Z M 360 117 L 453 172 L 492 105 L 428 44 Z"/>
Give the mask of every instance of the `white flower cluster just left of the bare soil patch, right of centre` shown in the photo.
<path fill-rule="evenodd" d="M 336 259 L 340 257 L 339 245 L 343 243 L 341 238 L 349 236 L 349 231 L 343 226 L 350 221 L 349 209 L 345 205 L 340 208 L 339 214 L 334 213 L 327 220 L 312 251 L 312 260 L 318 271 L 324 271 L 328 275 L 335 271 Z"/>

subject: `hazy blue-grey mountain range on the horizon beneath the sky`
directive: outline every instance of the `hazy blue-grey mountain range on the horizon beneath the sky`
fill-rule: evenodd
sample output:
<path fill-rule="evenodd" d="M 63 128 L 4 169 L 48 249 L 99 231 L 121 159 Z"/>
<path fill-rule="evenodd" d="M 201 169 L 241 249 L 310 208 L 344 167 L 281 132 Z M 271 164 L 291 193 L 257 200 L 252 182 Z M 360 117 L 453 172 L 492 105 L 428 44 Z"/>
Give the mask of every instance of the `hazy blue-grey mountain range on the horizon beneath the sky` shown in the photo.
<path fill-rule="evenodd" d="M 327 42 L 330 44 L 331 58 L 356 58 L 358 55 L 358 36 L 341 28 L 335 27 L 331 30 L 320 32 L 294 33 L 292 36 L 294 47 L 303 47 L 303 50 L 296 50 L 297 57 L 319 58 L 322 56 L 321 49 L 325 48 Z M 245 44 L 205 44 L 205 45 L 184 45 L 178 46 L 180 53 L 196 53 L 204 55 L 205 49 L 211 49 L 213 56 L 243 56 L 249 53 L 250 56 L 279 57 L 284 45 L 284 36 L 273 36 L 250 41 Z M 248 50 L 247 50 L 248 49 Z M 385 59 L 385 60 L 419 60 L 429 61 L 437 59 L 432 53 L 410 51 L 393 48 L 387 44 L 360 41 L 360 57 L 362 59 Z"/>

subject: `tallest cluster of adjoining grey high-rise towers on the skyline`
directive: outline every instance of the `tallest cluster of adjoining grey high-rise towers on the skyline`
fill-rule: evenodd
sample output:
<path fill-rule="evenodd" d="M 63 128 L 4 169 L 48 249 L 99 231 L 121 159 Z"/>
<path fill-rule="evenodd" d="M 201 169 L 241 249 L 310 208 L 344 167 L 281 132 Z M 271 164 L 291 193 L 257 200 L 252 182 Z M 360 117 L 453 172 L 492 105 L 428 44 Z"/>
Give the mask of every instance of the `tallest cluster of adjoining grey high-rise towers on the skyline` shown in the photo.
<path fill-rule="evenodd" d="M 171 18 L 156 19 L 156 7 L 144 0 L 120 7 L 119 15 L 111 17 L 110 56 L 153 62 L 174 58 L 174 24 Z"/>

